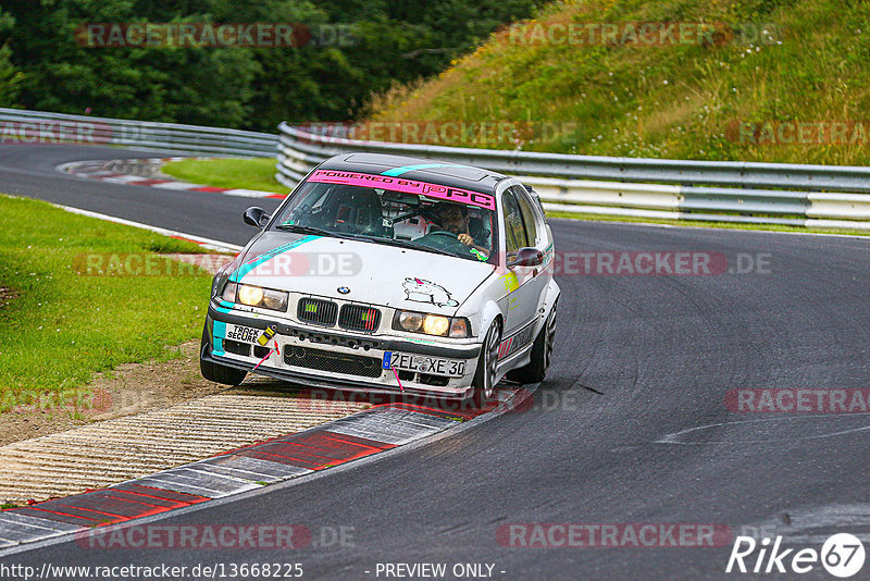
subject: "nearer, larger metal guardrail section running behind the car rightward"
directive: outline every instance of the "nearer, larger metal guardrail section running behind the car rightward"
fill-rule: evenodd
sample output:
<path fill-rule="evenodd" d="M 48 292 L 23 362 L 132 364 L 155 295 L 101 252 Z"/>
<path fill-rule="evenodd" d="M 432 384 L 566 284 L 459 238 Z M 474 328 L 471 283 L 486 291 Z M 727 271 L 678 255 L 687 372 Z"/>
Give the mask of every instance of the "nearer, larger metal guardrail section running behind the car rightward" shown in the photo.
<path fill-rule="evenodd" d="M 278 129 L 275 178 L 287 187 L 328 157 L 368 151 L 517 175 L 549 211 L 870 230 L 870 168 L 568 156 Z"/>

